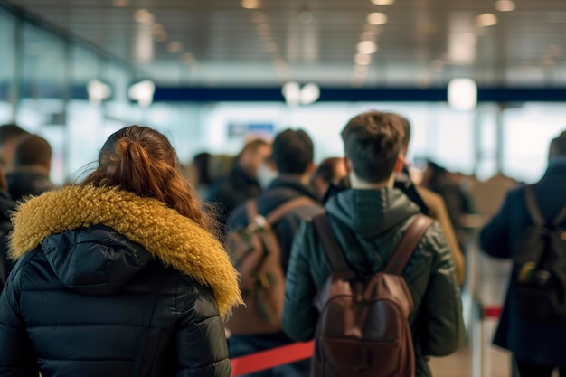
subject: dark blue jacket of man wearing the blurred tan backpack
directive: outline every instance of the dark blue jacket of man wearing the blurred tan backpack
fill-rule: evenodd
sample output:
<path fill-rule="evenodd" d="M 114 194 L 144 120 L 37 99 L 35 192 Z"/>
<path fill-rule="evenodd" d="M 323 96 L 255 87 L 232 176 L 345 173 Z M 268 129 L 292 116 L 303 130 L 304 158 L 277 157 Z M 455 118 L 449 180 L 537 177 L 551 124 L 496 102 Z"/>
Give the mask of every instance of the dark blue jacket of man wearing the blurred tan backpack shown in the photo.
<path fill-rule="evenodd" d="M 316 193 L 297 180 L 288 177 L 278 177 L 270 185 L 268 190 L 257 197 L 258 211 L 261 215 L 267 215 L 275 210 L 279 205 L 295 199 L 299 196 L 306 196 L 313 200 L 312 205 L 300 208 L 296 212 L 289 213 L 281 221 L 273 226 L 273 231 L 278 238 L 281 248 L 281 265 L 283 272 L 287 271 L 288 258 L 301 221 L 315 216 L 324 211 L 321 204 L 317 203 Z M 239 231 L 248 226 L 248 218 L 245 206 L 242 204 L 228 220 L 227 231 Z"/>

